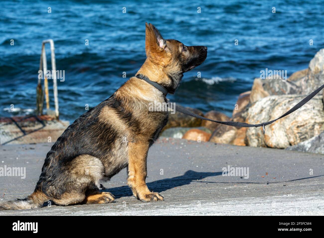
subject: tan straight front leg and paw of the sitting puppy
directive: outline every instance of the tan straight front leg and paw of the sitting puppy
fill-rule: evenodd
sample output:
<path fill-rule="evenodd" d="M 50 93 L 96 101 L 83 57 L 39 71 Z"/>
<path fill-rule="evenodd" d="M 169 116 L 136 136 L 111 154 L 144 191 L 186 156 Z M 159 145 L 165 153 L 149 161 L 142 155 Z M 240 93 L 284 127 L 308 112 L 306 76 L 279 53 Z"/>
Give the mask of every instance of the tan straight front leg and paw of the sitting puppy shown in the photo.
<path fill-rule="evenodd" d="M 127 183 L 129 187 L 131 187 L 133 195 L 143 202 L 163 200 L 160 194 L 150 192 L 145 183 L 147 176 L 146 159 L 148 148 L 148 142 L 128 143 L 129 162 Z"/>

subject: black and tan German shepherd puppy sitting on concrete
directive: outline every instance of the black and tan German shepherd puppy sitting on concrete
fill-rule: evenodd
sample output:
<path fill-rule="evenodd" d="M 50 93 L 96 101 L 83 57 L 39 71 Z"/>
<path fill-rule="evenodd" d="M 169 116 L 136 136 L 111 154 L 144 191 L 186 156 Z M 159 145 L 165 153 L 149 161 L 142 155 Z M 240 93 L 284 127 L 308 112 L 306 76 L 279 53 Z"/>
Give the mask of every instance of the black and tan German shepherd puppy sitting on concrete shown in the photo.
<path fill-rule="evenodd" d="M 173 94 L 183 73 L 200 65 L 207 47 L 186 46 L 165 40 L 146 23 L 146 60 L 137 74 L 147 76 Z M 34 192 L 25 199 L 8 201 L 0 210 L 57 205 L 108 203 L 109 192 L 100 192 L 100 180 L 109 180 L 127 167 L 127 184 L 141 201 L 163 197 L 145 183 L 150 146 L 168 121 L 167 111 L 149 111 L 152 102 L 167 103 L 161 91 L 142 79 L 131 77 L 110 98 L 90 109 L 71 124 L 47 153 Z"/>

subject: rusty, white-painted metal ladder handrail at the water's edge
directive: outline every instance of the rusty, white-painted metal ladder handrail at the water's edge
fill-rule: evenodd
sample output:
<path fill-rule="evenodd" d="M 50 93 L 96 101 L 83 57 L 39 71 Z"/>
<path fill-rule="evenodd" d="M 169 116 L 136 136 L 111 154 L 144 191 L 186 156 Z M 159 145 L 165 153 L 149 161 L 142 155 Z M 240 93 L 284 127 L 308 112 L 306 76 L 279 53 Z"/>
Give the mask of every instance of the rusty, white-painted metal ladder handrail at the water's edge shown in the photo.
<path fill-rule="evenodd" d="M 46 50 L 45 44 L 49 43 L 51 47 L 51 62 L 52 62 L 52 71 L 51 71 L 51 78 L 53 79 L 53 94 L 54 94 L 54 117 L 55 119 L 59 119 L 59 101 L 58 101 L 58 94 L 57 94 L 57 75 L 56 75 L 56 61 L 55 61 L 55 47 L 54 41 L 52 39 L 43 40 L 42 47 L 41 47 L 41 59 L 40 59 L 40 67 L 39 70 L 43 73 L 44 79 L 44 91 L 45 91 L 45 100 L 46 100 L 46 109 L 47 113 L 50 111 L 50 97 L 48 93 L 48 79 L 46 77 L 47 72 L 47 59 L 46 59 Z M 40 74 L 39 71 L 39 74 Z M 44 102 L 44 92 L 41 85 L 41 78 L 38 77 L 38 84 L 37 84 L 37 91 L 36 91 L 36 115 L 40 116 L 43 114 L 43 102 Z"/>

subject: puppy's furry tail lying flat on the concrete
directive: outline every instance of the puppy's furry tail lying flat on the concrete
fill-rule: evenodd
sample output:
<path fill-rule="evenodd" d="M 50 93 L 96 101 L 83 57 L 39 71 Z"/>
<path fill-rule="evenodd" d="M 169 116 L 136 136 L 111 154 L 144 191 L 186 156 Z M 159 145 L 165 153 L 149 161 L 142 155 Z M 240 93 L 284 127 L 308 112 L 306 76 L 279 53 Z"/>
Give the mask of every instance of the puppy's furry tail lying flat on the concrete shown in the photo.
<path fill-rule="evenodd" d="M 43 206 L 43 203 L 48 200 L 50 199 L 43 192 L 36 191 L 29 195 L 27 198 L 0 203 L 0 210 L 41 208 Z"/>

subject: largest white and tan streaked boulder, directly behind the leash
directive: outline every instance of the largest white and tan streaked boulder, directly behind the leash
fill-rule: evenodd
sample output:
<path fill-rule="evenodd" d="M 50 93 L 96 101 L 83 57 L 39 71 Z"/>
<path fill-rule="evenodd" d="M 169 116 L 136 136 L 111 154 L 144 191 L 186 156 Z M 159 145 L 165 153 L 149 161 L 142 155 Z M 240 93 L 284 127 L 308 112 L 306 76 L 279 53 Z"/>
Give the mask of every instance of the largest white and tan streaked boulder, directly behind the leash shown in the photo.
<path fill-rule="evenodd" d="M 280 95 L 260 99 L 249 108 L 247 123 L 259 124 L 283 115 L 305 96 Z M 265 127 L 247 130 L 248 145 L 272 148 L 287 148 L 319 135 L 324 130 L 324 109 L 322 96 L 315 96 L 302 108 Z"/>

